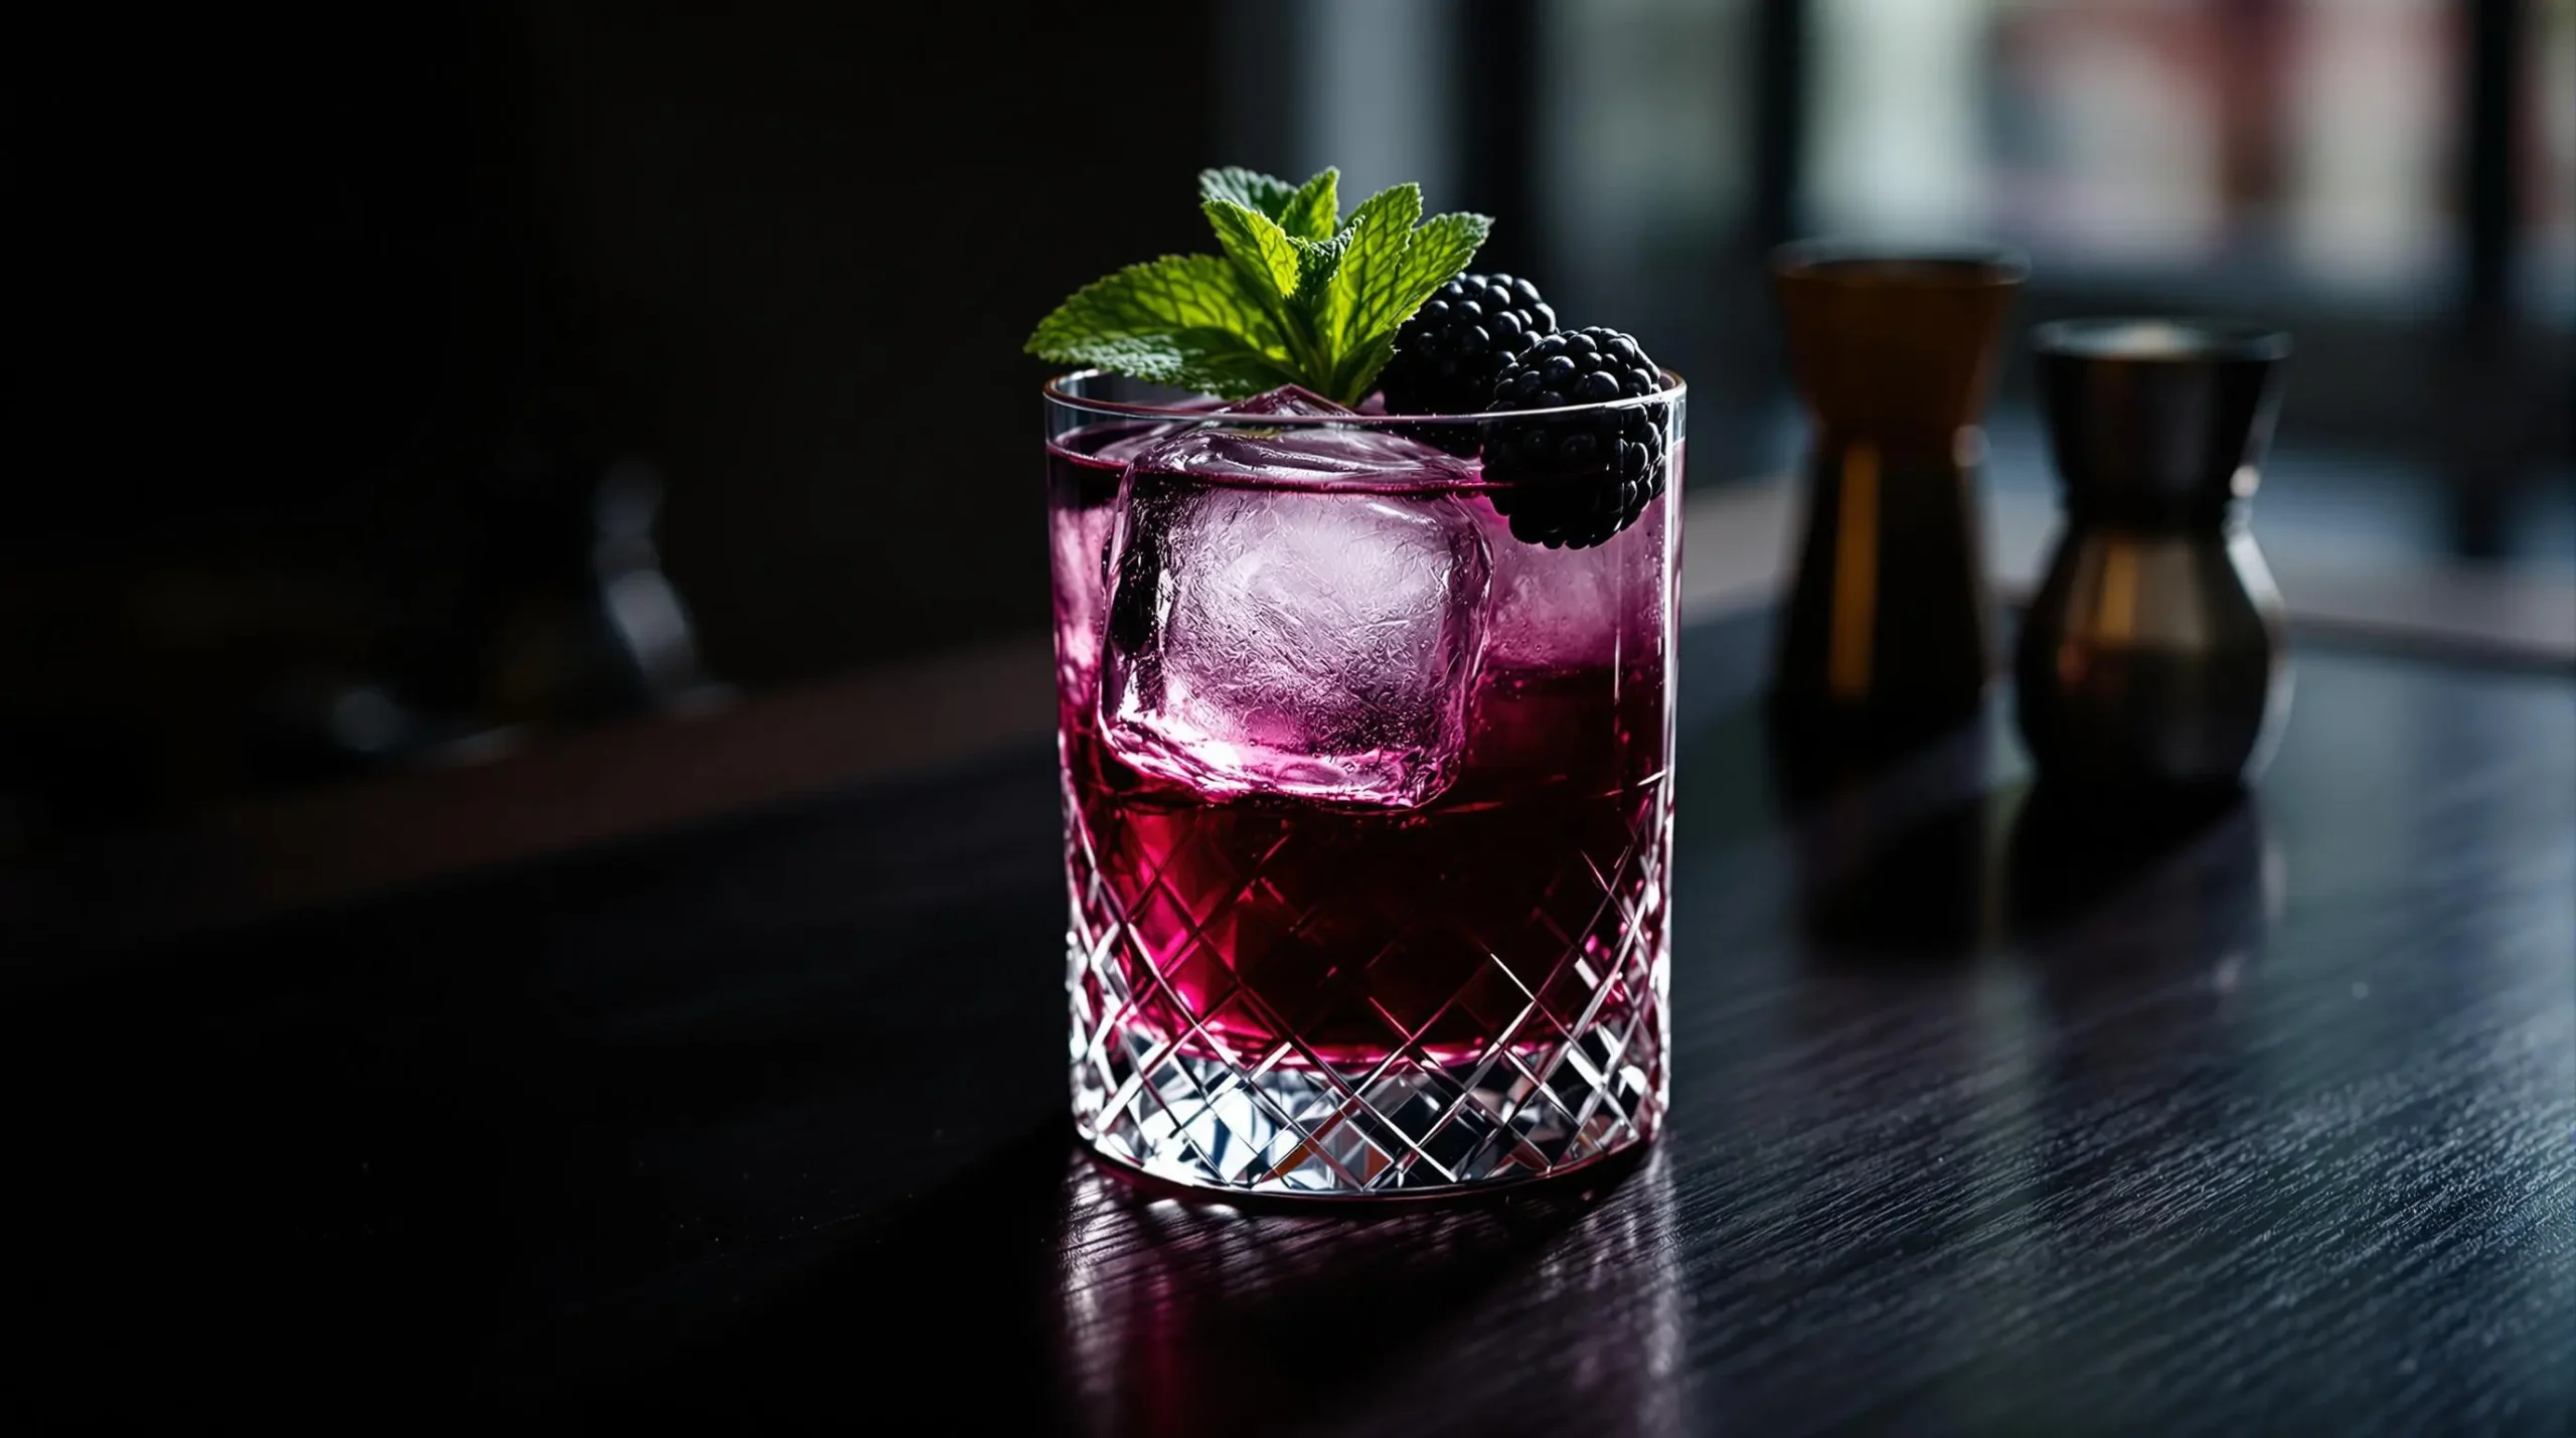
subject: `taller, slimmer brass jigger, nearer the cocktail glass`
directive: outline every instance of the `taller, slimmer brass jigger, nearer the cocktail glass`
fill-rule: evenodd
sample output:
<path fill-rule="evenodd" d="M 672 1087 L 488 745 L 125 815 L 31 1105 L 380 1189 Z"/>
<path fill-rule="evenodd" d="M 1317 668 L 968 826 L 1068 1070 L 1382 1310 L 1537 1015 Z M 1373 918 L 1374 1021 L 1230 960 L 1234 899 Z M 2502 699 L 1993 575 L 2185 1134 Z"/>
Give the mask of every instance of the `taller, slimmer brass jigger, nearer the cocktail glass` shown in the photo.
<path fill-rule="evenodd" d="M 1785 245 L 1772 286 L 1814 425 L 1772 655 L 1793 732 L 1906 742 L 1984 706 L 1976 420 L 2027 265 L 2009 250 Z"/>

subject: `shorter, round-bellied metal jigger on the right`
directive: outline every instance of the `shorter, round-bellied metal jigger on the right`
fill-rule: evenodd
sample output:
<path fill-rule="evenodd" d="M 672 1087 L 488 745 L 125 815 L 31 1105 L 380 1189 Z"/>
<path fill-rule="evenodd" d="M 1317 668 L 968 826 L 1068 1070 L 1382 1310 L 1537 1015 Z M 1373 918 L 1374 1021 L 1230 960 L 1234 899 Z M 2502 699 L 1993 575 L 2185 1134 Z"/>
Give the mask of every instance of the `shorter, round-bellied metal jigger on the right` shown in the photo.
<path fill-rule="evenodd" d="M 2032 330 L 2066 531 L 2022 618 L 2017 719 L 2048 789 L 2233 789 L 2290 709 L 2246 500 L 2290 338 L 2177 320 Z"/>

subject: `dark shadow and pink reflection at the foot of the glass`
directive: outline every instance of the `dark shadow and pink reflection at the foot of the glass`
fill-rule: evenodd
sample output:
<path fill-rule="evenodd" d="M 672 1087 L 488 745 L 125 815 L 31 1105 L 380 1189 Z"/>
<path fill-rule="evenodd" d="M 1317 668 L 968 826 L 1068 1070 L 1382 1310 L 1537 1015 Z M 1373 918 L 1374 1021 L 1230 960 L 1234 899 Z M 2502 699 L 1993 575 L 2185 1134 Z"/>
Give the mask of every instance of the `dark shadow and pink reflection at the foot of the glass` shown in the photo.
<path fill-rule="evenodd" d="M 1386 1209 L 1177 1198 L 1046 1124 L 647 1366 L 549 1356 L 510 1410 L 981 1433 L 1682 1433 L 1672 1180 Z M 1510 1374 L 1458 1345 L 1510 1343 Z M 1530 1361 L 1530 1356 L 1540 1356 Z M 572 1358 L 567 1363 L 567 1358 Z"/>

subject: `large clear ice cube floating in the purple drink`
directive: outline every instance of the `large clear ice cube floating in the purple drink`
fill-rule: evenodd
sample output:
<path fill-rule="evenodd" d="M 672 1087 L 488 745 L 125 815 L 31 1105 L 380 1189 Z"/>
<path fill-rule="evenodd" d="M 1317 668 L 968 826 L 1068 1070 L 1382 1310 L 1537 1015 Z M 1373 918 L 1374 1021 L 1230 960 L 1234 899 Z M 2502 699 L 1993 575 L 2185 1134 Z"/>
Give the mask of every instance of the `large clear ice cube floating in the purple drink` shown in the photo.
<path fill-rule="evenodd" d="M 1468 477 L 1373 430 L 1211 425 L 1136 454 L 1110 539 L 1110 747 L 1218 796 L 1432 799 L 1484 644 L 1492 559 L 1448 492 Z"/>

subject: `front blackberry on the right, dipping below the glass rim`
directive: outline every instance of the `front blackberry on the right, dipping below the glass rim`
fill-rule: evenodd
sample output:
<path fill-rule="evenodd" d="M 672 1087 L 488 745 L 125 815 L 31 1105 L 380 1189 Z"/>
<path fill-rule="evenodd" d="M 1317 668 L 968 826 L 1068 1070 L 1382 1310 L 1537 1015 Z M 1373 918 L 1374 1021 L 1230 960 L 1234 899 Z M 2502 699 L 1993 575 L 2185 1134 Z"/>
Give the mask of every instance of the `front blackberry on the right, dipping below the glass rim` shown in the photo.
<path fill-rule="evenodd" d="M 1664 389 L 1636 340 L 1587 327 L 1548 335 L 1504 366 L 1486 412 L 1553 410 L 1633 399 Z M 1494 420 L 1484 472 L 1502 482 L 1486 497 L 1512 521 L 1512 539 L 1584 549 L 1636 523 L 1664 492 L 1667 405 L 1628 405 L 1533 420 Z"/>

